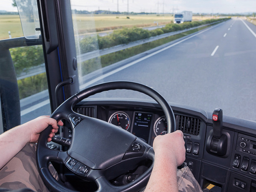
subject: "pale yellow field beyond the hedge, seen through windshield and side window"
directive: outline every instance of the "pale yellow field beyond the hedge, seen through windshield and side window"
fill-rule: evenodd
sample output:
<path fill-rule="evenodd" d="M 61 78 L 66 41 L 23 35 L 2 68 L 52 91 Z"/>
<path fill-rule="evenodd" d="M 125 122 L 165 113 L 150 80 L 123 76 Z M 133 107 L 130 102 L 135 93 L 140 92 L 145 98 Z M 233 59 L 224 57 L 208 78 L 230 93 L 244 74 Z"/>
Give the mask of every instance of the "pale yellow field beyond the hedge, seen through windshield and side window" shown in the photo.
<path fill-rule="evenodd" d="M 78 34 L 88 32 L 108 31 L 122 27 L 143 27 L 156 26 L 172 22 L 172 15 L 73 15 L 76 20 L 74 25 L 79 29 Z M 210 17 L 193 16 L 193 20 L 205 20 Z M 0 40 L 9 38 L 8 32 L 11 32 L 12 38 L 23 36 L 19 15 L 0 15 Z"/>

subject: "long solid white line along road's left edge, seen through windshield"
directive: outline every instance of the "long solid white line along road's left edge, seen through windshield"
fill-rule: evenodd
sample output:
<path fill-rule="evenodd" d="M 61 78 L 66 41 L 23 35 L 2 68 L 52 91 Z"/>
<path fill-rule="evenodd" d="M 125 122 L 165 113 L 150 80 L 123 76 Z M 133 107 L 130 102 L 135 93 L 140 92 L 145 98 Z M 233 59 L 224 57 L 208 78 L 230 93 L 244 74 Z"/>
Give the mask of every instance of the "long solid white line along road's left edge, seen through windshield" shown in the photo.
<path fill-rule="evenodd" d="M 183 41 L 186 41 L 186 40 L 188 40 L 188 39 L 190 39 L 190 38 L 193 38 L 193 37 L 195 37 L 195 36 L 197 36 L 197 35 L 200 35 L 201 33 L 207 32 L 208 30 L 213 29 L 213 28 L 215 28 L 216 26 L 219 26 L 219 25 L 221 25 L 221 24 L 223 24 L 223 23 L 219 23 L 219 24 L 217 24 L 217 25 L 215 25 L 215 26 L 212 26 L 211 28 L 205 29 L 204 31 L 198 32 L 198 33 L 195 34 L 195 35 L 192 35 L 192 36 L 190 36 L 190 37 L 188 37 L 188 38 L 185 38 L 185 39 L 183 39 L 183 40 L 180 40 L 180 41 L 176 42 L 175 44 L 169 45 L 169 46 L 167 46 L 167 47 L 165 47 L 165 48 L 163 48 L 163 49 L 160 49 L 160 50 L 158 50 L 158 51 L 156 51 L 156 52 L 153 52 L 153 53 L 151 53 L 151 54 L 149 54 L 149 55 L 147 55 L 147 56 L 145 56 L 145 57 L 143 57 L 143 58 L 140 58 L 140 59 L 138 59 L 138 60 L 136 60 L 136 61 L 133 61 L 133 62 L 131 62 L 131 63 L 129 63 L 129 64 L 126 64 L 126 65 L 124 65 L 124 66 L 122 66 L 122 67 L 119 67 L 119 68 L 116 69 L 116 70 L 113 70 L 113 71 L 111 71 L 111 72 L 108 72 L 108 73 L 106 73 L 106 74 L 104 74 L 104 75 L 102 75 L 102 76 L 100 76 L 100 77 L 97 77 L 97 78 L 95 78 L 95 79 L 93 79 L 93 80 L 91 80 L 91 81 L 88 81 L 88 82 L 85 83 L 85 84 L 82 84 L 79 88 L 80 88 L 80 90 L 82 90 L 82 89 L 84 89 L 84 88 L 86 88 L 86 87 L 89 87 L 91 84 L 93 84 L 93 83 L 95 83 L 95 82 L 97 82 L 97 81 L 99 81 L 99 80 L 102 80 L 102 79 L 104 79 L 104 78 L 106 78 L 106 77 L 108 77 L 108 76 L 111 76 L 111 75 L 113 75 L 114 73 L 117 73 L 117 72 L 119 72 L 119 71 L 121 71 L 121 70 L 124 70 L 124 69 L 127 68 L 127 67 L 131 67 L 132 65 L 137 64 L 137 63 L 139 63 L 140 61 L 143 61 L 143 60 L 145 60 L 145 59 L 147 59 L 147 58 L 150 58 L 150 57 L 152 57 L 152 56 L 154 56 L 154 55 L 156 55 L 156 54 L 158 54 L 158 53 L 160 53 L 160 52 L 165 51 L 166 49 L 169 49 L 169 48 L 171 48 L 171 47 L 174 47 L 175 45 L 180 44 L 180 43 L 182 43 Z"/>

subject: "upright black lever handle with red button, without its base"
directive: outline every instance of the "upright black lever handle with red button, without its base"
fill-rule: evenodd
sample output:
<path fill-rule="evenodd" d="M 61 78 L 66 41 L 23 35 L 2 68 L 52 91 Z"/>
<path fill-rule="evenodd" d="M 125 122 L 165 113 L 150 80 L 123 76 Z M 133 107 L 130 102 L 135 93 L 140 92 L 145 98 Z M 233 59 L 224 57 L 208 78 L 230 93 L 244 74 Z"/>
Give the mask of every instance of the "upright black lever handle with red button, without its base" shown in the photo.
<path fill-rule="evenodd" d="M 216 108 L 212 113 L 213 137 L 221 138 L 222 135 L 222 109 Z"/>

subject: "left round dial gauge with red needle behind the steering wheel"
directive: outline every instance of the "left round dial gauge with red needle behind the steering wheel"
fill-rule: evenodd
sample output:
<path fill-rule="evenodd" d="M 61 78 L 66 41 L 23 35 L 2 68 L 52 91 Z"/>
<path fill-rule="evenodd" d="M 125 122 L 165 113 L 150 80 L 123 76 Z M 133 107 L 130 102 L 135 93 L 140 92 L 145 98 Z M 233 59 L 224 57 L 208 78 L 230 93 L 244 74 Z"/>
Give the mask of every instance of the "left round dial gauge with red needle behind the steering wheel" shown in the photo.
<path fill-rule="evenodd" d="M 113 113 L 108 119 L 108 122 L 125 130 L 128 130 L 130 127 L 130 117 L 122 111 Z"/>

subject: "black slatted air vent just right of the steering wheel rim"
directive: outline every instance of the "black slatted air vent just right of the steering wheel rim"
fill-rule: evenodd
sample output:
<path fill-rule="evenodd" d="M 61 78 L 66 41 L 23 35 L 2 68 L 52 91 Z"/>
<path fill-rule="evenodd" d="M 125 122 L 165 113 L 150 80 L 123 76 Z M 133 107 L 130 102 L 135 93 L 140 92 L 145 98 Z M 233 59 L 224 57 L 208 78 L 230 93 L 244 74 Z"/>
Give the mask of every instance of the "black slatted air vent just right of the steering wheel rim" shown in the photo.
<path fill-rule="evenodd" d="M 176 128 L 184 134 L 198 135 L 200 131 L 200 120 L 194 117 L 176 115 Z"/>

